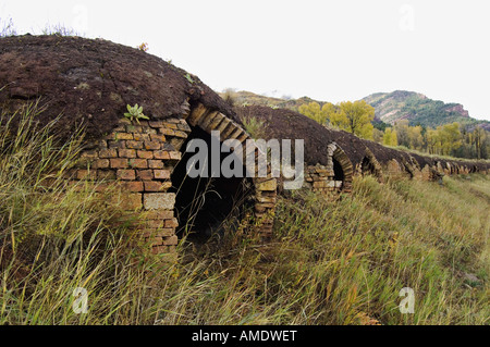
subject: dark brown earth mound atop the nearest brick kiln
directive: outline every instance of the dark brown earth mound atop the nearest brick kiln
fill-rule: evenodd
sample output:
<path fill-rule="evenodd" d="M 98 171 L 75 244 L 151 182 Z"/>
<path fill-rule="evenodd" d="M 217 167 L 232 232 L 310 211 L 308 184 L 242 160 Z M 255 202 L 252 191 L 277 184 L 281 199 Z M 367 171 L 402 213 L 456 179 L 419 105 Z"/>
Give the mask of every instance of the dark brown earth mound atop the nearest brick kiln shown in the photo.
<path fill-rule="evenodd" d="M 151 119 L 182 116 L 194 103 L 232 114 L 198 77 L 142 50 L 101 39 L 60 36 L 0 38 L 0 111 L 13 113 L 40 98 L 41 123 L 79 124 L 87 138 L 109 133 L 138 103 Z M 188 101 L 187 101 L 188 100 Z"/>

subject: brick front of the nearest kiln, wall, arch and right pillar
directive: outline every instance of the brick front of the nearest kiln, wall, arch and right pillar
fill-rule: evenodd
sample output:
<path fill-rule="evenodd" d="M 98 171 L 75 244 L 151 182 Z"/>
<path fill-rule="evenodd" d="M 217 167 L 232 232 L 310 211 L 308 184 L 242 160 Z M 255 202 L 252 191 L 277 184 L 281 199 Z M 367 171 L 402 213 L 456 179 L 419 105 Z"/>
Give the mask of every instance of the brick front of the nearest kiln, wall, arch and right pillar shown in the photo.
<path fill-rule="evenodd" d="M 130 121 L 121 119 L 111 134 L 96 141 L 96 147 L 81 156 L 77 169 L 70 172 L 76 181 L 98 182 L 98 189 L 117 185 L 122 189 L 122 207 L 127 211 L 146 211 L 142 233 L 154 253 L 173 252 L 179 226 L 174 215 L 175 193 L 172 173 L 182 159 L 182 145 L 198 126 L 207 133 L 220 131 L 221 140 L 249 138 L 235 122 L 203 104 L 183 119 Z M 258 169 L 258 165 L 256 165 Z M 272 233 L 275 207 L 275 178 L 254 178 L 255 213 L 264 237 Z"/>

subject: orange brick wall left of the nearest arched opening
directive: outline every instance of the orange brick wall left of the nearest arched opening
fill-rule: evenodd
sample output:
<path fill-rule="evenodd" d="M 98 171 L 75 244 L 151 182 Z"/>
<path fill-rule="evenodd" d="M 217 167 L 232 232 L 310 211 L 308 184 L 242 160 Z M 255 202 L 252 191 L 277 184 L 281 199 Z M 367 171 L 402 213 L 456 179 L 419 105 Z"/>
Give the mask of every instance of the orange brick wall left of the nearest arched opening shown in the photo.
<path fill-rule="evenodd" d="M 171 174 L 191 127 L 185 120 L 136 121 L 122 119 L 119 126 L 81 154 L 73 181 L 97 181 L 98 189 L 118 186 L 121 207 L 147 211 L 142 235 L 155 253 L 173 252 L 177 245 L 175 194 Z M 101 183 L 100 183 L 101 182 Z M 74 182 L 75 183 L 75 182 Z"/>

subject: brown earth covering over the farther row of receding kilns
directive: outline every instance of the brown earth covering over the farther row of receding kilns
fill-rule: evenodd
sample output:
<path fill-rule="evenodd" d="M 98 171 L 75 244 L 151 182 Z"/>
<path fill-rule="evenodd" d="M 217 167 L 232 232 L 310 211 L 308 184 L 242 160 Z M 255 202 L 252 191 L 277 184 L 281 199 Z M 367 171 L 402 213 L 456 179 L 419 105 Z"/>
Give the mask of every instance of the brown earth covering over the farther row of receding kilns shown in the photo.
<path fill-rule="evenodd" d="M 305 161 L 310 165 L 317 163 L 326 164 L 327 146 L 334 141 L 344 150 L 354 168 L 360 164 L 368 154 L 366 149 L 369 149 L 381 164 L 385 164 L 392 159 L 395 159 L 401 164 L 413 164 L 412 157 L 417 162 L 416 164 L 418 164 L 419 169 L 422 169 L 426 164 L 433 166 L 438 161 L 443 166 L 446 163 L 456 163 L 470 170 L 476 169 L 475 171 L 485 171 L 490 168 L 490 164 L 483 162 L 464 160 L 448 161 L 388 148 L 380 144 L 358 138 L 344 131 L 329 129 L 309 117 L 287 109 L 250 106 L 235 108 L 234 111 L 236 113 L 235 121 L 241 124 L 252 117 L 262 121 L 266 139 L 304 139 Z"/>

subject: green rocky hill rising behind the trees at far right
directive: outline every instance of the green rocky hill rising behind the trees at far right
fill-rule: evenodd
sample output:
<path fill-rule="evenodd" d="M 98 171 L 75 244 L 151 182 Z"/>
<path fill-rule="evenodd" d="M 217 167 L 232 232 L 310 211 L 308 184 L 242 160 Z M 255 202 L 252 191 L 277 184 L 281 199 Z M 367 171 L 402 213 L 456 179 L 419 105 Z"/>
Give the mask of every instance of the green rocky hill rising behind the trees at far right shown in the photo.
<path fill-rule="evenodd" d="M 469 127 L 481 125 L 490 131 L 490 122 L 471 119 L 462 104 L 444 103 L 414 91 L 377 92 L 363 100 L 376 109 L 376 119 L 388 124 L 408 120 L 411 125 L 436 127 L 458 122 Z"/>

